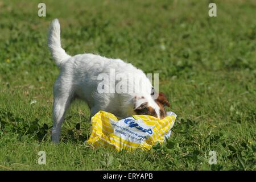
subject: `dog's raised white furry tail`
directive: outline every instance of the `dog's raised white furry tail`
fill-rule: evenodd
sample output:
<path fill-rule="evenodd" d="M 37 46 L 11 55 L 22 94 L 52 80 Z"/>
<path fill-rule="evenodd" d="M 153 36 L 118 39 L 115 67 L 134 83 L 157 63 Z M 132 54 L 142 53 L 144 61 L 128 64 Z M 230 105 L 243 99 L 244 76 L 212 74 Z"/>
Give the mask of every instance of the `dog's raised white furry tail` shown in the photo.
<path fill-rule="evenodd" d="M 58 19 L 53 19 L 51 26 L 49 27 L 48 35 L 48 47 L 52 53 L 52 57 L 55 60 L 57 67 L 61 67 L 69 56 L 60 45 L 60 23 Z"/>

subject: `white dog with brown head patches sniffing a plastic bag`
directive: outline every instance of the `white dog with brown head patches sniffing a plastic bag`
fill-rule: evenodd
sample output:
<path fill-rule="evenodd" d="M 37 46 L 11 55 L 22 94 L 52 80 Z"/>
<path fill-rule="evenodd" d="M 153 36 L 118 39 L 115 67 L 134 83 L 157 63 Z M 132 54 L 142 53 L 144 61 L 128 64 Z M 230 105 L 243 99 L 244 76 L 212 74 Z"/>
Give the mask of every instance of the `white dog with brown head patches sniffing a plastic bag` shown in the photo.
<path fill-rule="evenodd" d="M 52 21 L 49 28 L 48 47 L 57 67 L 60 68 L 60 75 L 53 86 L 53 142 L 59 142 L 65 111 L 75 98 L 84 100 L 88 104 L 91 116 L 100 110 L 108 111 L 120 118 L 133 114 L 147 114 L 158 118 L 166 115 L 164 106 L 170 106 L 166 97 L 163 93 L 159 93 L 158 98 L 152 97 L 151 82 L 140 69 L 120 59 L 108 59 L 90 53 L 69 56 L 61 48 L 60 24 L 57 19 Z M 115 75 L 118 73 L 129 75 L 129 78 L 122 80 L 123 87 L 126 86 L 128 92 L 109 93 L 102 90 L 99 92 L 99 88 L 102 89 L 102 80 L 98 79 L 99 75 L 111 77 L 113 70 Z M 139 82 L 134 83 L 129 80 L 139 80 Z M 106 79 L 103 88 L 115 90 L 116 84 L 117 80 L 114 80 L 113 84 L 113 80 Z M 138 92 L 134 92 L 136 88 L 140 88 Z"/>

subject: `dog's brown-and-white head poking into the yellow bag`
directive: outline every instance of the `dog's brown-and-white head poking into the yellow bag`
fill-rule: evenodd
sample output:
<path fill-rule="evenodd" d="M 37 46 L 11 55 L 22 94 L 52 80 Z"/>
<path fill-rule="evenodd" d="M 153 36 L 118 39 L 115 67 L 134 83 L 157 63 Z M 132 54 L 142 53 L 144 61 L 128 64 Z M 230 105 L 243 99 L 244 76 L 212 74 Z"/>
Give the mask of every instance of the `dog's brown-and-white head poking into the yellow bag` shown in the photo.
<path fill-rule="evenodd" d="M 164 106 L 170 107 L 164 93 L 160 92 L 158 98 L 154 100 L 152 97 L 134 97 L 134 112 L 136 114 L 152 115 L 156 118 L 162 119 L 166 117 L 166 110 Z"/>

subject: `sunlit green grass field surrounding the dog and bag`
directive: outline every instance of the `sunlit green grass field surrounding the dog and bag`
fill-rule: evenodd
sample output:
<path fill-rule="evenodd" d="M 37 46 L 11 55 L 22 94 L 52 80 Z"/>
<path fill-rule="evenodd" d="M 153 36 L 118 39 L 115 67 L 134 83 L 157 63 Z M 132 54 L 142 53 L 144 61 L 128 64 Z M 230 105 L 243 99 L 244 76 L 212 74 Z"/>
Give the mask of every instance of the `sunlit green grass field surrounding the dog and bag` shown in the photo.
<path fill-rule="evenodd" d="M 0 170 L 256 169 L 256 1 L 213 1 L 217 17 L 208 16 L 212 1 L 43 1 L 46 17 L 39 2 L 0 1 Z M 93 149 L 84 144 L 89 109 L 78 101 L 60 144 L 51 143 L 54 18 L 70 55 L 97 53 L 159 73 L 177 114 L 167 143 L 147 152 Z"/>

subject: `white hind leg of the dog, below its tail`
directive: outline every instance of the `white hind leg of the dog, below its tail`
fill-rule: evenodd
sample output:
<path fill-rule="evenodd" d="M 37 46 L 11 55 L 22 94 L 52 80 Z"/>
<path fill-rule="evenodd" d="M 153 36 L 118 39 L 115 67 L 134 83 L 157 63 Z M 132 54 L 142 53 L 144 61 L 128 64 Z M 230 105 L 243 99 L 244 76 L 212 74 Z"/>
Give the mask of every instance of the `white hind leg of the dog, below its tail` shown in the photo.
<path fill-rule="evenodd" d="M 53 126 L 51 138 L 52 142 L 59 143 L 61 125 L 65 118 L 65 111 L 73 100 L 73 93 L 71 87 L 60 84 L 57 80 L 53 89 L 54 101 L 53 101 Z"/>

